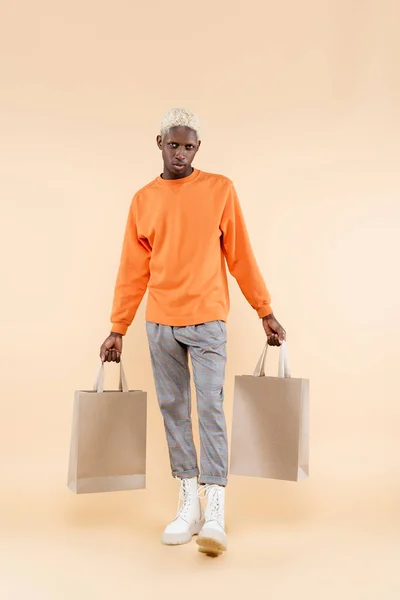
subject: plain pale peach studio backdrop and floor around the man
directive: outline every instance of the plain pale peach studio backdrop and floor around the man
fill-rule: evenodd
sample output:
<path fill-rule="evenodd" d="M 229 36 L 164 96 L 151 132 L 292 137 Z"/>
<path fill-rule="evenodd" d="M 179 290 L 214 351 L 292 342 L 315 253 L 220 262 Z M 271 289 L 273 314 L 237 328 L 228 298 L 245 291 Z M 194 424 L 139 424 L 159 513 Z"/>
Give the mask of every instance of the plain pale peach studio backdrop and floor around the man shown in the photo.
<path fill-rule="evenodd" d="M 3 4 L 2 598 L 399 597 L 399 17 L 395 0 Z M 125 363 L 149 392 L 148 490 L 65 485 L 73 392 L 92 385 L 130 199 L 175 105 L 202 117 L 196 166 L 235 181 L 311 380 L 310 480 L 232 477 L 218 561 L 159 542 L 177 488 L 144 304 Z M 228 422 L 264 344 L 231 283 Z"/>

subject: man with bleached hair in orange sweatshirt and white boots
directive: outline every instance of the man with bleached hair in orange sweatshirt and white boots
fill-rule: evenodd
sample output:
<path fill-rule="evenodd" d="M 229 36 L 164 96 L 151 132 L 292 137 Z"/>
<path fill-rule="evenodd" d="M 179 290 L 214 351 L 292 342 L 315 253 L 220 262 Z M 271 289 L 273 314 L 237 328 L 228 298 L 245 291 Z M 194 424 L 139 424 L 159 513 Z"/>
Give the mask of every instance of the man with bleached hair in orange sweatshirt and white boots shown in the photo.
<path fill-rule="evenodd" d="M 199 124 L 184 109 L 162 120 L 157 145 L 164 169 L 134 196 L 114 293 L 103 362 L 120 361 L 122 337 L 149 291 L 146 327 L 172 474 L 181 504 L 162 542 L 193 535 L 203 552 L 227 548 L 225 486 L 228 445 L 223 409 L 230 273 L 262 319 L 270 345 L 285 331 L 275 319 L 250 245 L 232 182 L 194 169 Z M 201 440 L 200 470 L 193 443 L 188 354 L 193 366 Z M 207 499 L 205 514 L 201 496 Z"/>

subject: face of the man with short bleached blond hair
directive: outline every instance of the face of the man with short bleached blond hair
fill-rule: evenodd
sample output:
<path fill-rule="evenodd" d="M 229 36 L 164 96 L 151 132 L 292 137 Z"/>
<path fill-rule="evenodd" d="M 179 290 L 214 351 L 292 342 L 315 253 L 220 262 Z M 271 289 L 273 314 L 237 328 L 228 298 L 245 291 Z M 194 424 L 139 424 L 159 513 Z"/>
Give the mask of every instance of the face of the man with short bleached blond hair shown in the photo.
<path fill-rule="evenodd" d="M 165 179 L 180 179 L 192 172 L 192 162 L 200 148 L 197 134 L 189 127 L 173 127 L 168 133 L 157 136 L 162 152 Z"/>

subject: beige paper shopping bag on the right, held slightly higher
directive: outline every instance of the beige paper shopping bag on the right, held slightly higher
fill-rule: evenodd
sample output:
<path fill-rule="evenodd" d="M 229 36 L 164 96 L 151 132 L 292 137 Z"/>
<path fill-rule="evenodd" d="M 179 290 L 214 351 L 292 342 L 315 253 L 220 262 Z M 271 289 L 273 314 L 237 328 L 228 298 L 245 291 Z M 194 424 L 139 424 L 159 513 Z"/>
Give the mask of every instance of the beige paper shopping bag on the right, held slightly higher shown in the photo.
<path fill-rule="evenodd" d="M 235 377 L 230 473 L 300 481 L 309 475 L 309 381 L 290 376 L 286 343 L 278 377 L 266 377 L 267 349 L 253 375 Z"/>

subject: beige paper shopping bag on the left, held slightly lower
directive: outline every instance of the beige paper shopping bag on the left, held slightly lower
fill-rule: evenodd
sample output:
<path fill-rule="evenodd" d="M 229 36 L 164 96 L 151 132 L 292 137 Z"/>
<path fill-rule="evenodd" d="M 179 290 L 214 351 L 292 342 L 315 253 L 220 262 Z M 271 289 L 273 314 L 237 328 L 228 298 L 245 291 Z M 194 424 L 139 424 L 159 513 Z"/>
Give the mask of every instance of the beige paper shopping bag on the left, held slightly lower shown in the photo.
<path fill-rule="evenodd" d="M 146 487 L 147 394 L 104 391 L 101 365 L 92 391 L 75 393 L 68 487 L 77 494 Z"/>

